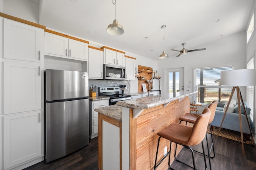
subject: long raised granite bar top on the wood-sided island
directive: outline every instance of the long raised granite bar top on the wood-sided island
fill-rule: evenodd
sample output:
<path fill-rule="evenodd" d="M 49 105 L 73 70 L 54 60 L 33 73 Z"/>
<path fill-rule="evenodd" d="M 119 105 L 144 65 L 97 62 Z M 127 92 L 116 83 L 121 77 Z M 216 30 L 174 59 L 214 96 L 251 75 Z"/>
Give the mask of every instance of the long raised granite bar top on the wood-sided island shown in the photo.
<path fill-rule="evenodd" d="M 122 107 L 128 107 L 131 109 L 150 109 L 162 104 L 172 102 L 174 100 L 195 95 L 197 93 L 198 92 L 185 91 L 185 92 L 161 94 L 157 96 L 148 96 L 144 98 L 124 100 L 124 101 L 117 102 L 116 105 L 122 106 Z"/>

